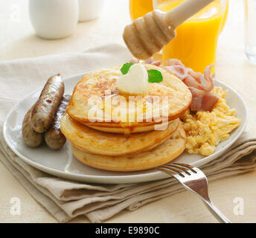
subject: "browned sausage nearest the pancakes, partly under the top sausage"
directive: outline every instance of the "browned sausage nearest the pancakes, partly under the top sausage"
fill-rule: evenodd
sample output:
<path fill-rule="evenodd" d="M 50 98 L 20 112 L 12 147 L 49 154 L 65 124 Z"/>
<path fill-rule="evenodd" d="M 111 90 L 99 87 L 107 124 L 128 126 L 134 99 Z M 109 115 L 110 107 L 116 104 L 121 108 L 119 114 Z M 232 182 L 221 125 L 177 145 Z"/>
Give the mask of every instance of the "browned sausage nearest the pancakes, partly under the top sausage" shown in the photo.
<path fill-rule="evenodd" d="M 65 144 L 65 136 L 60 131 L 60 120 L 65 115 L 65 109 L 68 106 L 70 100 L 70 95 L 65 95 L 61 102 L 60 106 L 57 109 L 56 115 L 54 117 L 54 122 L 52 123 L 50 129 L 45 132 L 45 143 L 51 149 L 60 149 Z"/>

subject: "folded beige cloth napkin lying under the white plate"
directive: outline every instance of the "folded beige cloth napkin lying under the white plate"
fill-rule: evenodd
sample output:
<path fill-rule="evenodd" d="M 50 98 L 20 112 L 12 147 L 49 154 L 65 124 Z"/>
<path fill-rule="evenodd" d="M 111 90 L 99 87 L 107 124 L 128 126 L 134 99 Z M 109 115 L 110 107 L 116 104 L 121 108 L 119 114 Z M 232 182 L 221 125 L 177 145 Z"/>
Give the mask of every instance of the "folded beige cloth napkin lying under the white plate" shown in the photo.
<path fill-rule="evenodd" d="M 121 210 L 135 210 L 184 190 L 173 178 L 139 184 L 90 184 L 60 179 L 26 164 L 4 142 L 2 124 L 7 112 L 30 91 L 42 86 L 49 76 L 61 72 L 63 77 L 69 77 L 118 65 L 130 58 L 127 49 L 120 45 L 103 45 L 81 54 L 0 62 L 0 160 L 59 222 L 68 222 L 81 214 L 91 222 L 102 222 Z M 253 170 L 256 167 L 254 149 L 256 137 L 243 132 L 225 155 L 201 169 L 210 181 Z"/>

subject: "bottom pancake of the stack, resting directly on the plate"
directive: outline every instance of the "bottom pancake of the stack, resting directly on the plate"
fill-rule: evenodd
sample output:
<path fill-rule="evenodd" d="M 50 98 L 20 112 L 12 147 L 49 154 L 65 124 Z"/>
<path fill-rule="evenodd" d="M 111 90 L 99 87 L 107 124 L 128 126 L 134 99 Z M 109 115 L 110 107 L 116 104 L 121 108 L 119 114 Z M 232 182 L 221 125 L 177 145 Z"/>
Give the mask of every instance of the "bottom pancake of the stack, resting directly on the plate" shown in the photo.
<path fill-rule="evenodd" d="M 124 155 L 118 157 L 93 155 L 72 144 L 71 151 L 75 158 L 91 167 L 101 170 L 128 172 L 148 170 L 169 163 L 182 154 L 185 149 L 185 143 L 185 131 L 182 128 L 179 128 L 159 147 L 136 155 Z"/>

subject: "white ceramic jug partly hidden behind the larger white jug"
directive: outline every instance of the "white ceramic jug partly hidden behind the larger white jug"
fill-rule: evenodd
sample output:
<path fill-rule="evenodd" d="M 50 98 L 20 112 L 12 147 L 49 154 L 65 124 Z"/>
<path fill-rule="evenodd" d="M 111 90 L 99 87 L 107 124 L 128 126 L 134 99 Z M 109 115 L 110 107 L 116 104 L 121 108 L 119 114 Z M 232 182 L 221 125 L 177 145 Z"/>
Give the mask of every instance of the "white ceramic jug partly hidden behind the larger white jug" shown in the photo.
<path fill-rule="evenodd" d="M 86 22 L 100 16 L 104 0 L 79 0 L 79 21 Z"/>

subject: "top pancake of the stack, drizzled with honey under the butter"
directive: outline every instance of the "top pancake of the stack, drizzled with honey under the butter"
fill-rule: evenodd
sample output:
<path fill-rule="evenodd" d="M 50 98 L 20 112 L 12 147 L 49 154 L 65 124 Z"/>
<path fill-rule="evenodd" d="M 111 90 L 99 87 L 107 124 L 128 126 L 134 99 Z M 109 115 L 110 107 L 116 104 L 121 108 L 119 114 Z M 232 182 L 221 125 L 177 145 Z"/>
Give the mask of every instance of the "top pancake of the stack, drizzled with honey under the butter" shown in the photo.
<path fill-rule="evenodd" d="M 94 129 L 105 132 L 147 132 L 164 120 L 179 118 L 191 104 L 191 91 L 182 80 L 156 65 L 145 68 L 161 71 L 161 83 L 149 83 L 149 94 L 135 97 L 134 108 L 128 98 L 119 94 L 116 82 L 121 65 L 103 68 L 86 74 L 77 85 L 67 108 L 68 115 Z M 156 97 L 159 103 L 155 102 Z M 130 98 L 129 98 L 130 99 Z M 167 106 L 162 109 L 164 100 Z M 131 102 L 131 100 L 129 100 Z M 159 106 L 160 105 L 160 106 Z"/>

